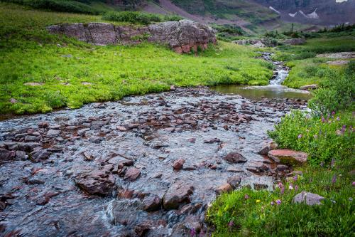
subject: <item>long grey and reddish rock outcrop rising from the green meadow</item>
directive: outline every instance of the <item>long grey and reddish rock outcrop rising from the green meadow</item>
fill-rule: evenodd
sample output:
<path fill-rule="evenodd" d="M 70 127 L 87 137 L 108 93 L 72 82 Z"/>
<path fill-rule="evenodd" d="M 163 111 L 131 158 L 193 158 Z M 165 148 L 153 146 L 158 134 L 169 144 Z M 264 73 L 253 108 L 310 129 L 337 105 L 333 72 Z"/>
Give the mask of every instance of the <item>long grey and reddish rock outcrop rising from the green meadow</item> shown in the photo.
<path fill-rule="evenodd" d="M 48 26 L 50 33 L 60 33 L 80 41 L 105 46 L 140 43 L 143 40 L 163 43 L 177 53 L 206 49 L 216 43 L 212 28 L 193 21 L 168 21 L 143 27 L 115 26 L 111 23 L 74 23 Z"/>

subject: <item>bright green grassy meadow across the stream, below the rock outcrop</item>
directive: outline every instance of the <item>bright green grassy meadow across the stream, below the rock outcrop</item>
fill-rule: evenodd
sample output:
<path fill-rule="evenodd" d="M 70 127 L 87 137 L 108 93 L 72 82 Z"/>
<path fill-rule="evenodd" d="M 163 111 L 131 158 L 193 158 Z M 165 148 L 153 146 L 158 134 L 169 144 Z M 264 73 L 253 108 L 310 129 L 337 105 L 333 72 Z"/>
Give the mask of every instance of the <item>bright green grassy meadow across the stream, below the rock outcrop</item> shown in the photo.
<path fill-rule="evenodd" d="M 0 15 L 1 114 L 75 108 L 169 90 L 170 85 L 266 85 L 272 75 L 267 63 L 254 58 L 253 49 L 231 43 L 211 46 L 197 57 L 148 43 L 92 46 L 50 35 L 45 26 L 102 21 L 101 16 L 35 11 L 12 4 L 0 4 Z M 43 85 L 24 85 L 31 82 Z M 11 98 L 18 102 L 11 103 Z"/>

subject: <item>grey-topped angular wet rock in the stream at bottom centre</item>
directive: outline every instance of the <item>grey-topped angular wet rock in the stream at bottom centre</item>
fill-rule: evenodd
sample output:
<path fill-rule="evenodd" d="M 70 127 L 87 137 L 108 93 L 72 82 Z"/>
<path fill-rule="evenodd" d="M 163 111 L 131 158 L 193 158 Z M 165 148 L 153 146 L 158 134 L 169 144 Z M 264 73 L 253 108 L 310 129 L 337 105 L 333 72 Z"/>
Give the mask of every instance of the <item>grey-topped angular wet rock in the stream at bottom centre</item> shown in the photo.
<path fill-rule="evenodd" d="M 181 204 L 190 203 L 193 186 L 182 181 L 171 185 L 163 197 L 163 206 L 167 210 L 178 209 Z"/>

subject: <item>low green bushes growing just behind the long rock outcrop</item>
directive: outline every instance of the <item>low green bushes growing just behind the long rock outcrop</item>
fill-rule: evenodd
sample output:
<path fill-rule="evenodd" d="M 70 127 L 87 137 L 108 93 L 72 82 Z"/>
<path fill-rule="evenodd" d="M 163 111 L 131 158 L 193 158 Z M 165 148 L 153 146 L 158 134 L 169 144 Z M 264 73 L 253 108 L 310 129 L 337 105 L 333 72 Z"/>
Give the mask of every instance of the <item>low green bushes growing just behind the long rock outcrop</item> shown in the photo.
<path fill-rule="evenodd" d="M 130 23 L 141 23 L 148 25 L 152 22 L 160 22 L 162 19 L 155 14 L 145 14 L 138 11 L 110 11 L 102 16 L 102 19 L 107 21 L 119 21 Z"/>

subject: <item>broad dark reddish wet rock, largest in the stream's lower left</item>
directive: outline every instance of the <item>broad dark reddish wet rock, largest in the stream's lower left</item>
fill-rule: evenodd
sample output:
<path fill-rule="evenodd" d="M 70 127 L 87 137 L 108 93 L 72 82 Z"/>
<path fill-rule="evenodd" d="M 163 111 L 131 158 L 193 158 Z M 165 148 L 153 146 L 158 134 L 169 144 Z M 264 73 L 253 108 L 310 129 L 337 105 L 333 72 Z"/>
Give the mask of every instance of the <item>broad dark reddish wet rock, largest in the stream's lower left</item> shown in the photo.
<path fill-rule="evenodd" d="M 85 172 L 75 177 L 75 184 L 89 194 L 107 196 L 114 190 L 114 176 L 102 170 Z"/>

